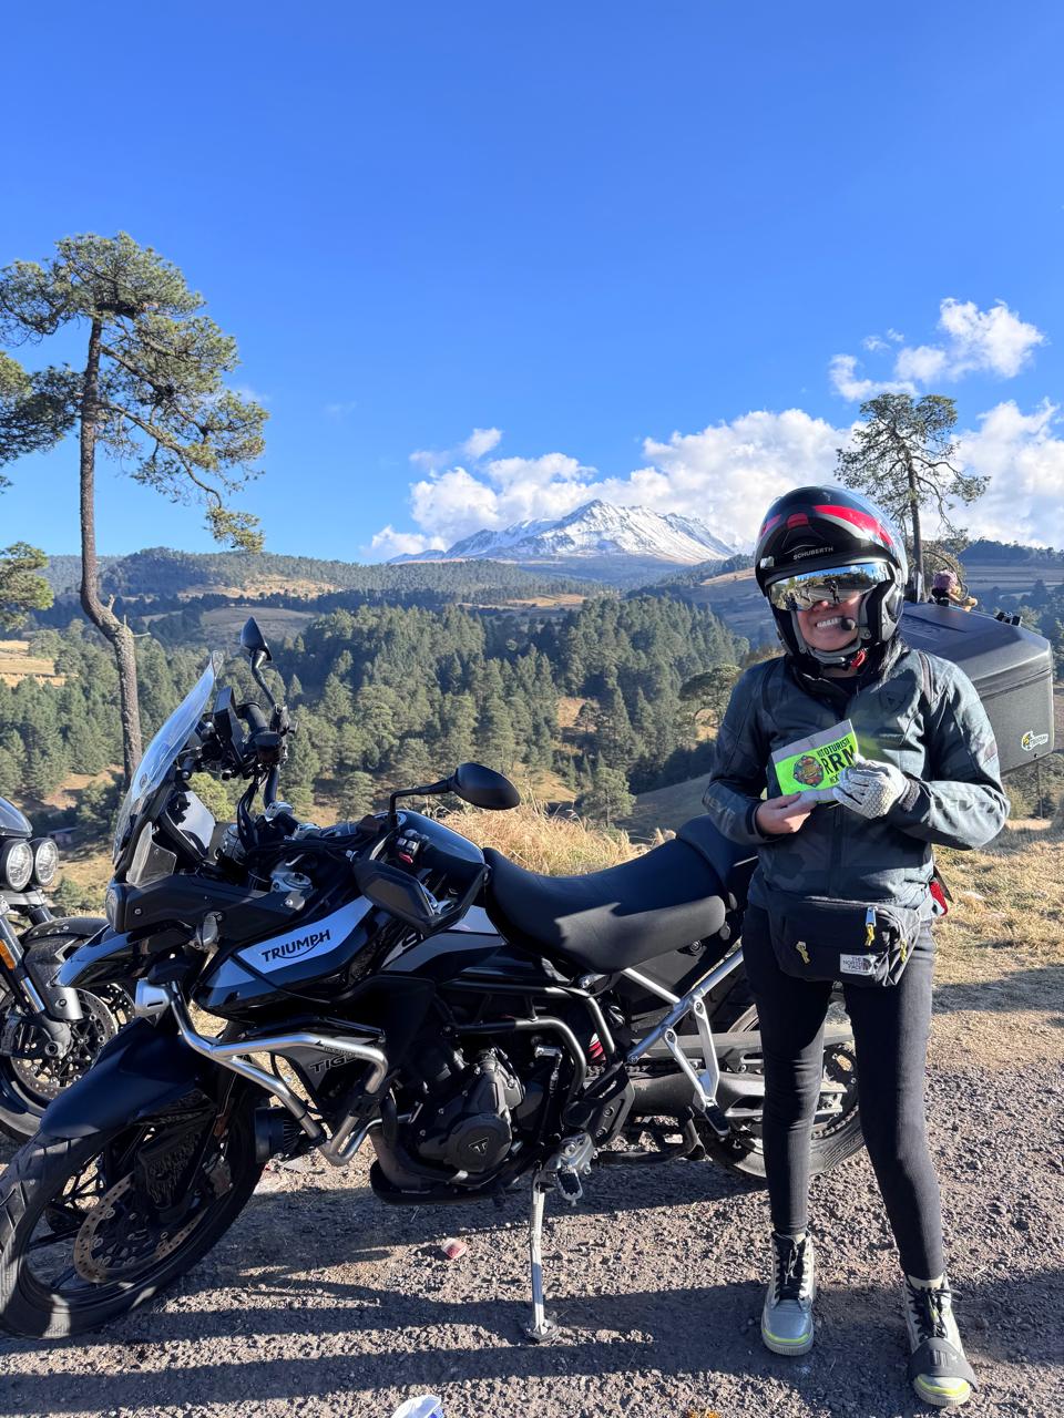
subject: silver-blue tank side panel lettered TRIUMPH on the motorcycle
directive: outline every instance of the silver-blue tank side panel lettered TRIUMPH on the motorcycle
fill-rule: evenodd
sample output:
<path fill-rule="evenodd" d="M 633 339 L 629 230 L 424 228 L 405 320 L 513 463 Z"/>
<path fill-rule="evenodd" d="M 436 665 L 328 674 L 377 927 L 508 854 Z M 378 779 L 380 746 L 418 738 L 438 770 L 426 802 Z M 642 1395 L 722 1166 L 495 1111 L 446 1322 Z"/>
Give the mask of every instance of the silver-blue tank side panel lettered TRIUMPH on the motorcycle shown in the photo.
<path fill-rule="evenodd" d="M 211 966 L 196 988 L 196 1003 L 209 1011 L 228 1011 L 272 998 L 278 990 L 298 990 L 340 970 L 367 944 L 365 896 L 328 916 L 302 920 L 278 936 L 234 950 Z"/>

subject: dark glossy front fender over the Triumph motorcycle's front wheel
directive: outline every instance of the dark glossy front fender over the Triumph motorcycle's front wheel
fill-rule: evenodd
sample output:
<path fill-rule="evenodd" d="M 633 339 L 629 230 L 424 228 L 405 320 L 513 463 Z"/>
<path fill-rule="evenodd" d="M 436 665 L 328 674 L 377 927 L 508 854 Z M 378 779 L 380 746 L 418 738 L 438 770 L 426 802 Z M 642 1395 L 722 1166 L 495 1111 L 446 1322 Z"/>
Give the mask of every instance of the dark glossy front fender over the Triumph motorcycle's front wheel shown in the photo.
<path fill-rule="evenodd" d="M 92 1068 L 48 1105 L 41 1132 L 89 1137 L 167 1107 L 197 1088 L 210 1088 L 218 1065 L 180 1035 L 135 1020 L 99 1052 Z"/>

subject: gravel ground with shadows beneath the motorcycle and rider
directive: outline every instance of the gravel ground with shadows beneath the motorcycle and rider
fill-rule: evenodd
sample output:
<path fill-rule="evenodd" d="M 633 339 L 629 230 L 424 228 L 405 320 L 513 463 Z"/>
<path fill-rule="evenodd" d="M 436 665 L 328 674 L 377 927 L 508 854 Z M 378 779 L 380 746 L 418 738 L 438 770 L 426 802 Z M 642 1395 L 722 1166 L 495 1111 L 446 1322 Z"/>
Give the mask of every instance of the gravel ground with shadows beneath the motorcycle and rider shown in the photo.
<path fill-rule="evenodd" d="M 1064 1076 L 939 1059 L 932 1143 L 952 1278 L 982 1388 L 965 1412 L 1064 1407 Z M 10 1151 L 3 1157 L 10 1156 Z M 548 1202 L 559 1343 L 521 1340 L 516 1200 L 380 1205 L 365 1163 L 272 1167 L 218 1246 L 166 1297 L 82 1343 L 0 1340 L 0 1414 L 390 1414 L 420 1391 L 447 1418 L 739 1418 L 929 1412 L 904 1377 L 898 1271 L 861 1154 L 814 1183 L 819 1336 L 758 1337 L 765 1197 L 705 1163 L 600 1170 Z M 447 1261 L 441 1241 L 468 1251 Z"/>

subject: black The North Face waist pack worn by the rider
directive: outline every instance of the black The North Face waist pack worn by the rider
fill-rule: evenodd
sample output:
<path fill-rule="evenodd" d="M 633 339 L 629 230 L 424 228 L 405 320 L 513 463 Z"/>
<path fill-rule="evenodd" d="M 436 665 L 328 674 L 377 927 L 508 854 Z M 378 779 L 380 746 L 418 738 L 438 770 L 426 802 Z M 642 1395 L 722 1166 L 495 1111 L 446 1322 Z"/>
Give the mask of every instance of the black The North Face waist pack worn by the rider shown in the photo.
<path fill-rule="evenodd" d="M 797 980 L 890 986 L 901 980 L 924 916 L 890 902 L 779 893 L 769 910 L 776 961 Z"/>

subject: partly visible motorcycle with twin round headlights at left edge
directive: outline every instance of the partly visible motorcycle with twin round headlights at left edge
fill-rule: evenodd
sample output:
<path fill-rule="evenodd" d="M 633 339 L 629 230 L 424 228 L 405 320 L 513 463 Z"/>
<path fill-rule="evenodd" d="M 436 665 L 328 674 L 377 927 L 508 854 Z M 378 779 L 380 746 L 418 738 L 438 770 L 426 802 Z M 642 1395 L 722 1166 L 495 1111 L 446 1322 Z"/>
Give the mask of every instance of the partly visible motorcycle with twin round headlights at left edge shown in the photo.
<path fill-rule="evenodd" d="M 79 1078 L 131 1014 L 121 983 L 98 991 L 57 980 L 62 963 L 106 926 L 94 916 L 52 916 L 44 891 L 60 852 L 34 838 L 0 797 L 0 1133 L 33 1137 L 48 1103 Z"/>

